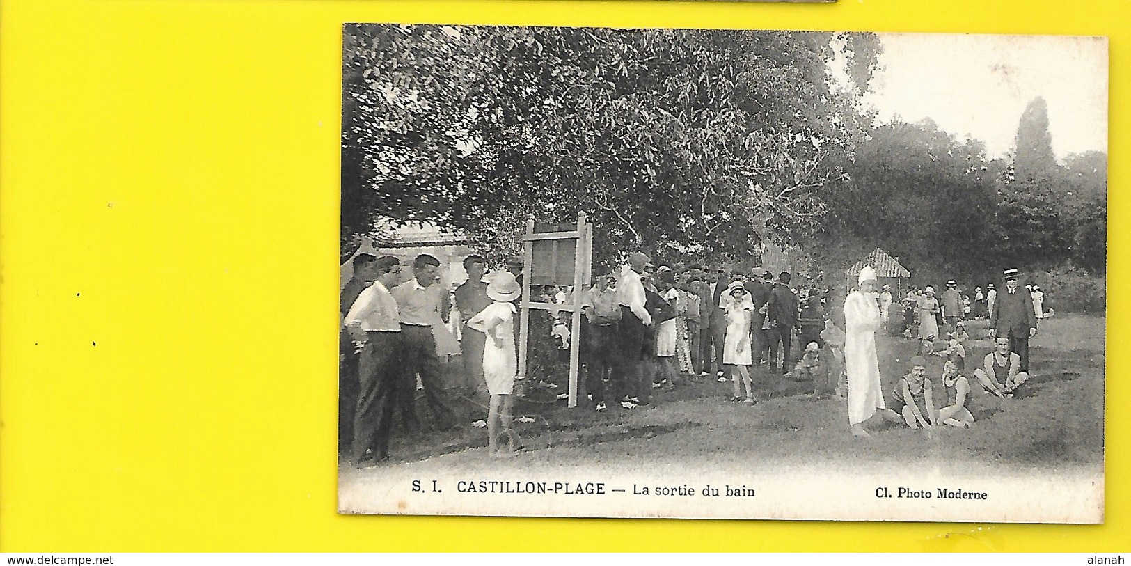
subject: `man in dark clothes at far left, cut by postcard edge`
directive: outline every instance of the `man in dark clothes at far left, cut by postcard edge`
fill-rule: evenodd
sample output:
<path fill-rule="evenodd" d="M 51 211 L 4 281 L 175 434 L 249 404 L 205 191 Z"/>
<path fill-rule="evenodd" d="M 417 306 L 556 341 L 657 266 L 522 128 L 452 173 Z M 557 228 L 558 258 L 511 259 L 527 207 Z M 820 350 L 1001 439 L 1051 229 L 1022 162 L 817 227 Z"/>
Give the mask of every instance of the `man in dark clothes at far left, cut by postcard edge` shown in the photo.
<path fill-rule="evenodd" d="M 353 258 L 353 276 L 342 289 L 342 329 L 338 332 L 338 449 L 346 455 L 353 446 L 354 410 L 357 409 L 357 352 L 351 333 L 345 327 L 345 316 L 349 307 L 365 286 L 375 280 L 372 273 L 377 257 L 371 254 L 357 254 Z"/>

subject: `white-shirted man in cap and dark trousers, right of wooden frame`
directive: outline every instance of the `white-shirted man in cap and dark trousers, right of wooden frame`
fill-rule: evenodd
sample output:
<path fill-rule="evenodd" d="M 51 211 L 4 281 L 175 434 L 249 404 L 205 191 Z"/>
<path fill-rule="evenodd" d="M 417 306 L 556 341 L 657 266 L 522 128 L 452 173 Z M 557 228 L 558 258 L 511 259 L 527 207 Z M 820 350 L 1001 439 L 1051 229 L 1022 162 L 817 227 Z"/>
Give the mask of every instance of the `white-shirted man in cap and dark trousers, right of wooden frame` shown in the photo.
<path fill-rule="evenodd" d="M 640 274 L 650 259 L 639 251 L 629 256 L 629 263 L 621 269 L 621 280 L 616 283 L 616 303 L 621 307 L 621 321 L 618 328 L 621 355 L 616 357 L 619 374 L 624 380 L 625 395 L 621 406 L 633 409 L 639 403 L 641 387 L 651 387 L 642 383 L 641 361 L 645 341 L 645 327 L 651 325 L 651 315 L 645 308 L 646 294 Z M 644 393 L 650 393 L 650 389 Z M 633 401 L 636 400 L 636 401 Z"/>

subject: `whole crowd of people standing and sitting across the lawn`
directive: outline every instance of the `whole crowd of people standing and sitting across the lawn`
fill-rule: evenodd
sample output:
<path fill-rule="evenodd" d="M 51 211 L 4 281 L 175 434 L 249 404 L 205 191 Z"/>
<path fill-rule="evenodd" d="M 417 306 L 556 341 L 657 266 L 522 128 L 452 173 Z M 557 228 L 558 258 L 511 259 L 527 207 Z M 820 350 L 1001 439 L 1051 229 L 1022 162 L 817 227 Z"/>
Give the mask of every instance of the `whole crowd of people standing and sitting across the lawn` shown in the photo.
<path fill-rule="evenodd" d="M 1051 315 L 1039 288 L 1018 285 L 1016 269 L 1005 272 L 1001 294 L 988 284 L 986 293 L 975 288 L 972 298 L 950 281 L 941 299 L 927 286 L 897 301 L 865 266 L 844 300 L 841 328 L 832 316 L 840 303 L 831 290 L 798 289 L 791 273 L 775 277 L 762 267 L 733 264 L 657 267 L 637 252 L 592 286 L 532 285 L 532 300 L 551 308 L 532 317 L 530 351 L 535 363 L 539 345 L 551 359 L 542 360 L 538 375 L 516 385 L 520 264 L 486 273 L 484 259 L 469 256 L 464 260 L 468 278 L 454 292 L 440 284 L 440 261 L 430 255 L 413 260 L 411 276 L 402 275 L 392 256 L 359 254 L 353 267 L 342 293 L 340 436 L 360 465 L 388 457 L 394 413 L 408 430 L 421 429 L 418 389 L 432 427 L 457 423 L 439 361 L 451 348 L 463 365 L 457 392 L 474 397 L 486 389 L 489 453 L 506 457 L 521 449 L 515 396 L 530 389 L 524 381 L 555 386 L 547 368 L 568 352 L 572 332 L 581 334 L 584 406 L 590 410 L 648 406 L 654 391 L 708 379 L 729 381 L 729 401 L 753 405 L 760 401 L 757 392 L 774 394 L 788 381 L 802 381 L 813 398 L 847 397 L 851 430 L 867 436 L 863 426 L 874 415 L 913 428 L 973 424 L 972 392 L 1011 396 L 1028 379 L 1028 338 L 1037 320 Z M 570 328 L 566 311 L 576 303 L 584 309 L 582 324 Z M 458 342 L 444 331 L 449 317 Z M 995 349 L 968 374 L 977 385 L 972 388 L 964 342 L 967 320 L 977 318 L 988 319 Z M 881 328 L 918 340 L 910 371 L 889 392 L 881 391 L 875 352 Z M 446 346 L 449 341 L 455 345 Z M 942 348 L 936 341 L 944 341 Z M 931 355 L 944 359 L 941 408 L 927 376 L 925 357 Z"/>

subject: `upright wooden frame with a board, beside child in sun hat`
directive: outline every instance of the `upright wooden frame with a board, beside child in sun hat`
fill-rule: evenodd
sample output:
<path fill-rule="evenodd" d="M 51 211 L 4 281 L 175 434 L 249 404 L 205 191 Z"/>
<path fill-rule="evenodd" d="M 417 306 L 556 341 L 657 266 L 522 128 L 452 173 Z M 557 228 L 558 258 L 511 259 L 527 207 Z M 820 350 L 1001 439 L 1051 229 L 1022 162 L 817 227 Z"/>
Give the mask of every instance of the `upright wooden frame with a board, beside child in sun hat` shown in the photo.
<path fill-rule="evenodd" d="M 570 349 L 569 349 L 569 406 L 577 406 L 578 374 L 580 371 L 581 353 L 581 291 L 589 283 L 593 271 L 593 224 L 586 214 L 577 215 L 577 226 L 571 231 L 536 232 L 534 215 L 526 218 L 526 233 L 523 235 L 523 298 L 520 301 L 518 333 L 518 378 L 527 376 L 527 345 L 530 333 L 530 309 L 570 312 Z M 567 305 L 530 300 L 530 278 L 534 276 L 534 247 L 536 241 L 551 241 L 553 256 L 556 258 L 558 242 L 573 240 L 572 265 L 572 301 Z M 553 267 L 558 267 L 553 265 Z M 558 283 L 561 284 L 561 283 Z"/>

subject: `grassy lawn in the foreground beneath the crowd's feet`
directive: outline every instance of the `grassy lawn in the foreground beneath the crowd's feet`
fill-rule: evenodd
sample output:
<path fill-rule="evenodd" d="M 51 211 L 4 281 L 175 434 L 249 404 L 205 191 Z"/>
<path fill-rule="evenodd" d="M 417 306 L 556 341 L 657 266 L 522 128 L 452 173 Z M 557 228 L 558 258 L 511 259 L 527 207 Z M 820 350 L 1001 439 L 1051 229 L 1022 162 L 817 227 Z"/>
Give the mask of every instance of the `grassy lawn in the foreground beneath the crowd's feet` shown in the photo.
<path fill-rule="evenodd" d="M 968 370 L 991 351 L 985 323 L 968 325 Z M 784 392 L 762 384 L 763 401 L 734 405 L 731 384 L 708 380 L 672 393 L 659 393 L 649 408 L 606 412 L 566 408 L 566 402 L 519 402 L 517 412 L 534 419 L 518 424 L 529 452 L 506 463 L 486 457 L 486 431 L 469 424 L 446 432 L 406 438 L 391 445 L 391 462 L 349 474 L 379 475 L 382 469 L 413 462 L 414 469 L 468 466 L 568 470 L 577 463 L 608 463 L 655 470 L 687 463 L 748 469 L 808 469 L 851 462 L 878 471 L 889 466 L 930 465 L 944 473 L 985 471 L 1103 472 L 1104 318 L 1057 316 L 1042 323 L 1030 341 L 1033 378 L 1015 398 L 999 400 L 975 387 L 972 429 L 940 427 L 931 431 L 870 423 L 873 437 L 848 434 L 847 409 L 836 397 L 814 401 L 804 383 Z M 976 340 L 975 340 L 976 338 Z M 880 372 L 884 389 L 907 372 L 916 343 L 881 337 Z M 929 367 L 935 398 L 944 398 L 942 361 Z M 976 383 L 972 379 L 973 383 Z M 563 391 L 563 389 L 559 389 Z M 482 413 L 482 414 L 478 414 Z M 422 415 L 425 413 L 421 413 Z M 486 410 L 470 406 L 472 418 Z M 442 457 L 437 457 L 442 456 Z"/>

